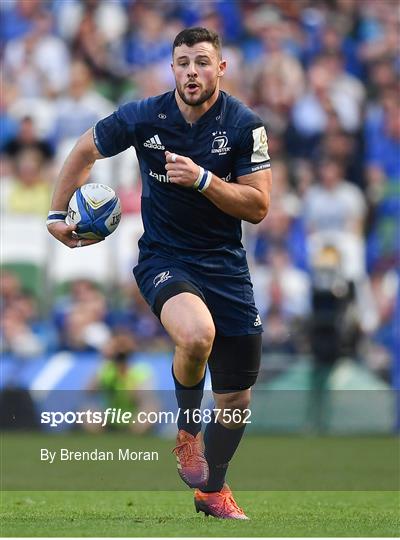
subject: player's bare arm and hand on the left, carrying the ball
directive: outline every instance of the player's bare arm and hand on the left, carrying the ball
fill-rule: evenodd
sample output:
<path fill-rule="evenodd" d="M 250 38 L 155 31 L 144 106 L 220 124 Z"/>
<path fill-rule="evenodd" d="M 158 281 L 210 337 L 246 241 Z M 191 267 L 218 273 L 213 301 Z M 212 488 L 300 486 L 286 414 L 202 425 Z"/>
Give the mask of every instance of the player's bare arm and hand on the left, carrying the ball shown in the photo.
<path fill-rule="evenodd" d="M 93 130 L 88 129 L 78 139 L 71 150 L 58 175 L 51 201 L 51 211 L 65 212 L 68 203 L 75 192 L 89 177 L 89 173 L 97 159 L 104 156 L 97 150 L 93 140 Z M 77 238 L 73 236 L 75 225 L 67 225 L 63 221 L 56 221 L 47 226 L 48 231 L 57 240 L 70 248 L 77 247 Z M 95 244 L 101 240 L 80 240 L 80 246 Z"/>

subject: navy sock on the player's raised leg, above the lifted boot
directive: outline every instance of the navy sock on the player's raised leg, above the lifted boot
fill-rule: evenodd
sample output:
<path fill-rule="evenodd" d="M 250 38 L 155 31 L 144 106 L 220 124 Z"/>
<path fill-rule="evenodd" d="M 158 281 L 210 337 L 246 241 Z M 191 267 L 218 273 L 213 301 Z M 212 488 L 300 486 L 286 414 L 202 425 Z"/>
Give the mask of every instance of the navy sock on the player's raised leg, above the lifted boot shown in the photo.
<path fill-rule="evenodd" d="M 192 435 L 197 435 L 201 431 L 201 422 L 193 420 L 193 412 L 200 409 L 203 399 L 204 381 L 206 374 L 195 386 L 184 386 L 175 377 L 172 366 L 172 377 L 175 383 L 175 395 L 180 408 L 178 415 L 178 429 L 183 429 Z M 198 418 L 196 418 L 198 420 Z"/>

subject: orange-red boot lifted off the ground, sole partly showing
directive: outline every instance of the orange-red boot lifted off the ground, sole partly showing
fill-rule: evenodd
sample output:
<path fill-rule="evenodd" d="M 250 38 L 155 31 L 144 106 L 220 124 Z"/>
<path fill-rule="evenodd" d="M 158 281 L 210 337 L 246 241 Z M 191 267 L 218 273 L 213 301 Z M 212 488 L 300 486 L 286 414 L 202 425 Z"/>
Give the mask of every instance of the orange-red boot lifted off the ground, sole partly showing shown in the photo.
<path fill-rule="evenodd" d="M 191 488 L 200 488 L 208 482 L 208 463 L 203 454 L 201 433 L 196 436 L 180 429 L 173 449 L 179 476 Z"/>

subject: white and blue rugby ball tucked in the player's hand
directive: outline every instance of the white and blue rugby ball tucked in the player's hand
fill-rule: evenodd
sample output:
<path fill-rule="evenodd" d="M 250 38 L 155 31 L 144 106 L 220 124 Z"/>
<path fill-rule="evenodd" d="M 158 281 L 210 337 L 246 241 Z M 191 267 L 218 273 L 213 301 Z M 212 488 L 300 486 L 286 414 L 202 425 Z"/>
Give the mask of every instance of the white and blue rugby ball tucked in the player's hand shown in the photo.
<path fill-rule="evenodd" d="M 121 220 L 121 203 L 105 184 L 85 184 L 68 205 L 67 223 L 76 225 L 80 238 L 99 240 L 115 231 Z"/>

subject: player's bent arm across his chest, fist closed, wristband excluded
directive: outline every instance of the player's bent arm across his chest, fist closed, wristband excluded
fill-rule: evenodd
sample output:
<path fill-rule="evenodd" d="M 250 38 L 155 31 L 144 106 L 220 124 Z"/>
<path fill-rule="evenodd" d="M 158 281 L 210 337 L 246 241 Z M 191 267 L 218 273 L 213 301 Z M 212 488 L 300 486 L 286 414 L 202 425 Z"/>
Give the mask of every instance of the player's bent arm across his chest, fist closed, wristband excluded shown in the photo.
<path fill-rule="evenodd" d="M 170 181 L 184 187 L 193 187 L 200 167 L 190 158 L 175 156 L 166 152 L 165 168 Z M 226 214 L 250 223 L 259 223 L 268 213 L 271 184 L 270 169 L 240 176 L 235 184 L 224 182 L 213 174 L 207 190 L 202 193 Z"/>

